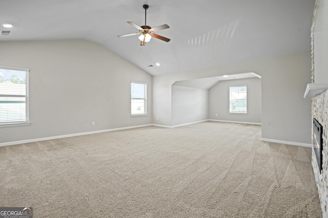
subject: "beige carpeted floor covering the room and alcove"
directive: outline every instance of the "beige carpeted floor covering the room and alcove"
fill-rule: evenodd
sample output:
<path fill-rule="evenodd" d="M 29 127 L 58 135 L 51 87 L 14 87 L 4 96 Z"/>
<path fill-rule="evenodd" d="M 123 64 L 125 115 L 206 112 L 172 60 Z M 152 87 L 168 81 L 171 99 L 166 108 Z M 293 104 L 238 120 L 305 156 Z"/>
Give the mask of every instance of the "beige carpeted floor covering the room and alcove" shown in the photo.
<path fill-rule="evenodd" d="M 310 148 L 256 125 L 146 127 L 0 147 L 0 207 L 33 217 L 321 217 Z"/>

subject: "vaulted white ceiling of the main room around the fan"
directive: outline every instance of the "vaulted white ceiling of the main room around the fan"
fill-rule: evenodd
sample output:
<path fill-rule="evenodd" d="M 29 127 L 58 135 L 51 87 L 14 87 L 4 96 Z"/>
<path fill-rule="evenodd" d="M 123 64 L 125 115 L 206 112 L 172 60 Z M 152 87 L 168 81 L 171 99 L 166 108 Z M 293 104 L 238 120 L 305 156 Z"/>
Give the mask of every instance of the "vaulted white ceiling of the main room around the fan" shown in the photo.
<path fill-rule="evenodd" d="M 126 21 L 170 29 L 140 46 Z M 0 41 L 85 39 L 107 47 L 151 75 L 309 51 L 315 0 L 1 0 Z M 5 30 L 0 26 L 1 30 Z M 160 66 L 155 66 L 159 62 Z M 147 65 L 154 67 L 147 67 Z"/>

